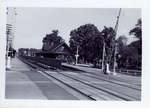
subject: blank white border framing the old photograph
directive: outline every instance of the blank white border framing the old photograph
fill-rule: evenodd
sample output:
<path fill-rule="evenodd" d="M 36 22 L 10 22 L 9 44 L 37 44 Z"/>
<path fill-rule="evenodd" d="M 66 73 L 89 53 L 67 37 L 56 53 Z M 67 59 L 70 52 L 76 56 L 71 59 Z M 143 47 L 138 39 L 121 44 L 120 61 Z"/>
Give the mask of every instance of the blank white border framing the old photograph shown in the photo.
<path fill-rule="evenodd" d="M 0 108 L 145 108 L 150 97 L 150 51 L 148 0 L 6 0 L 0 4 Z M 7 7 L 141 8 L 142 9 L 142 101 L 55 101 L 5 99 L 5 46 Z"/>

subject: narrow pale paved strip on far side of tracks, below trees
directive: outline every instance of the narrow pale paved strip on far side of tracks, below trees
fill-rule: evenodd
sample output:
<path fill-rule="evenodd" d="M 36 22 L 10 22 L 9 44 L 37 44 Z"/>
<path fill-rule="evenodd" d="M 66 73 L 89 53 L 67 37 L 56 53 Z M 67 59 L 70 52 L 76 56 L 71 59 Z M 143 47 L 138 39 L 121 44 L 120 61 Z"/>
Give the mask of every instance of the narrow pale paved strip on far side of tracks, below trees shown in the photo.
<path fill-rule="evenodd" d="M 72 67 L 72 68 L 76 68 L 76 69 L 86 71 L 86 72 L 90 72 L 90 73 L 100 74 L 100 75 L 103 75 L 104 77 L 108 76 L 108 75 L 104 75 L 102 70 L 97 69 L 97 68 L 91 68 L 91 67 L 80 66 L 80 65 L 71 65 L 71 64 L 66 64 L 66 63 L 63 63 L 62 65 Z M 125 81 L 125 82 L 131 82 L 131 83 L 134 83 L 134 84 L 137 84 L 137 85 L 141 85 L 141 77 L 130 76 L 130 75 L 125 75 L 125 74 L 120 74 L 120 73 L 117 73 L 117 75 L 115 75 L 115 76 L 110 75 L 109 77 L 112 78 L 112 79 Z"/>

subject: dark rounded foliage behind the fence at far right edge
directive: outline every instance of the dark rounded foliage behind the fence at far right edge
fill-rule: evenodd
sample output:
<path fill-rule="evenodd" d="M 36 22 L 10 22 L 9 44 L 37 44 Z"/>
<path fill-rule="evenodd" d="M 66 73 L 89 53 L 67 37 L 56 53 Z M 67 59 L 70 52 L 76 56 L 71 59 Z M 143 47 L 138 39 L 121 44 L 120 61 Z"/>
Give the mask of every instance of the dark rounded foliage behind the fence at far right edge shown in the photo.
<path fill-rule="evenodd" d="M 117 58 L 118 67 L 126 69 L 140 69 L 141 55 L 138 52 L 137 46 L 139 41 L 134 41 L 129 45 L 123 46 L 123 50 L 119 51 Z"/>

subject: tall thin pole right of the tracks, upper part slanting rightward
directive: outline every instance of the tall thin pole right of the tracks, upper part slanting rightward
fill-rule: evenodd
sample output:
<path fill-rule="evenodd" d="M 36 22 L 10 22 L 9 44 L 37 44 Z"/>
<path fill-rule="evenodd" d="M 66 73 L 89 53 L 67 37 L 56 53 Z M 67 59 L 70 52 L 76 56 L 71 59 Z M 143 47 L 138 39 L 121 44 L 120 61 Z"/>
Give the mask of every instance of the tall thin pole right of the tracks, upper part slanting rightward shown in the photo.
<path fill-rule="evenodd" d="M 117 16 L 117 22 L 116 22 L 116 25 L 115 25 L 115 41 L 114 41 L 114 48 L 115 48 L 115 51 L 114 51 L 114 66 L 113 66 L 113 75 L 116 75 L 116 53 L 117 53 L 117 44 L 116 44 L 116 37 L 117 37 L 117 30 L 118 30 L 118 24 L 119 24 L 119 18 L 120 18 L 120 14 L 121 14 L 121 8 L 119 9 L 119 14 Z"/>

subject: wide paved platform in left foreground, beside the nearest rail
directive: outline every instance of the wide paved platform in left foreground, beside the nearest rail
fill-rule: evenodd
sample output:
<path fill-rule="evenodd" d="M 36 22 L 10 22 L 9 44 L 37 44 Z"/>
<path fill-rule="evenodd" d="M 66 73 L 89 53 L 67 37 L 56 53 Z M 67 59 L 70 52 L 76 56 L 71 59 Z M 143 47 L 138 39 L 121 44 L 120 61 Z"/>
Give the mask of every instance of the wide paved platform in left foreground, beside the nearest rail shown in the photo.
<path fill-rule="evenodd" d="M 65 89 L 31 70 L 18 58 L 12 59 L 12 68 L 6 71 L 6 99 L 77 100 Z"/>

